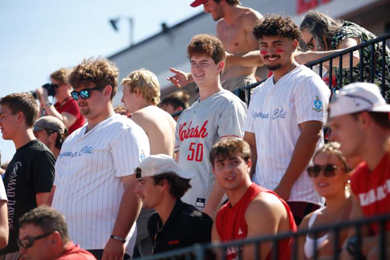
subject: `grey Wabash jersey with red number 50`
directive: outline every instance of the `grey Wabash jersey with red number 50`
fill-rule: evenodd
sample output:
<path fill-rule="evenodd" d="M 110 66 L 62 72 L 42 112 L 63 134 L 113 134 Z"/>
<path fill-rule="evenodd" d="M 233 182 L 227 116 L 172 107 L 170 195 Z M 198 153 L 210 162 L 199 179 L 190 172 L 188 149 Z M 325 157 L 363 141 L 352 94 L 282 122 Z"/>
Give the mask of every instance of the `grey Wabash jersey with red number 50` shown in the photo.
<path fill-rule="evenodd" d="M 181 113 L 176 124 L 175 152 L 179 165 L 196 173 L 182 200 L 203 209 L 210 197 L 215 176 L 209 161 L 211 147 L 223 137 L 242 138 L 247 115 L 244 102 L 228 90 L 221 90 L 205 100 L 196 100 Z"/>

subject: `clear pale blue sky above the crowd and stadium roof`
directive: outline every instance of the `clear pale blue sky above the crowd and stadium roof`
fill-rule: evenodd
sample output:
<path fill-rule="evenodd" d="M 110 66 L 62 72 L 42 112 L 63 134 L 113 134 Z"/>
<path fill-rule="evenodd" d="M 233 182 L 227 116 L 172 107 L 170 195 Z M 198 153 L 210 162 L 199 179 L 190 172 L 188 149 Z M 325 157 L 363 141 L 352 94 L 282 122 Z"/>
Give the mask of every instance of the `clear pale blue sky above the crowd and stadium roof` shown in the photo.
<path fill-rule="evenodd" d="M 110 56 L 129 46 L 129 22 L 139 42 L 201 11 L 191 0 L 1 0 L 0 97 L 34 90 L 51 72 L 83 58 Z M 121 17 L 119 31 L 109 20 Z M 15 146 L 0 139 L 2 161 Z"/>

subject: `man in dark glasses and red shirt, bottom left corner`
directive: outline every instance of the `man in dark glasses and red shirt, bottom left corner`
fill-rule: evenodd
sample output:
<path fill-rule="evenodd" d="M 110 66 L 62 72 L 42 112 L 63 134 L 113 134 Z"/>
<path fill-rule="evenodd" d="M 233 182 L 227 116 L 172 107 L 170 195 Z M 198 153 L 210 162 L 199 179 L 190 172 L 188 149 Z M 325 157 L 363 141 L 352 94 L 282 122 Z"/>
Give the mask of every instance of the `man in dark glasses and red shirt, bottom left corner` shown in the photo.
<path fill-rule="evenodd" d="M 51 207 L 39 206 L 25 213 L 19 224 L 17 242 L 22 259 L 96 260 L 70 240 L 65 218 Z"/>

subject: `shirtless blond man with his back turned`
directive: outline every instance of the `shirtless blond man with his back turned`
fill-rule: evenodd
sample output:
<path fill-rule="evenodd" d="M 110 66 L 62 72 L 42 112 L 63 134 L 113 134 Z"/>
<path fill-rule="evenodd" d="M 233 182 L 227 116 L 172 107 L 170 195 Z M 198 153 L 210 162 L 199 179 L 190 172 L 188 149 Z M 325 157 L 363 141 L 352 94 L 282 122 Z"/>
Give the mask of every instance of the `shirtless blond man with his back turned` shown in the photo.
<path fill-rule="evenodd" d="M 150 142 L 150 154 L 174 156 L 176 121 L 157 107 L 160 84 L 156 75 L 145 69 L 133 71 L 121 82 L 122 102 L 132 114 L 131 119 L 145 131 Z M 137 219 L 136 246 L 141 256 L 151 255 L 153 244 L 148 235 L 147 220 L 154 210 L 141 210 Z"/>

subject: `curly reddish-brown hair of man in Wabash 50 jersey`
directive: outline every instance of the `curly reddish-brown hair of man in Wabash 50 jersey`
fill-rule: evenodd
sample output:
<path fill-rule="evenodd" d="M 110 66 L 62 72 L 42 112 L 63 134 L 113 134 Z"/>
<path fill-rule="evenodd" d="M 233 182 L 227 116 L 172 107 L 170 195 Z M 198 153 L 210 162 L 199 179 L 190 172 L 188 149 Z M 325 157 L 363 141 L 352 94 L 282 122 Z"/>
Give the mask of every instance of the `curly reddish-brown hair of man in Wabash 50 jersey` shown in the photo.
<path fill-rule="evenodd" d="M 226 60 L 225 48 L 222 42 L 210 34 L 195 35 L 187 46 L 187 56 L 191 60 L 193 56 L 206 55 L 214 60 L 215 64 Z"/>

